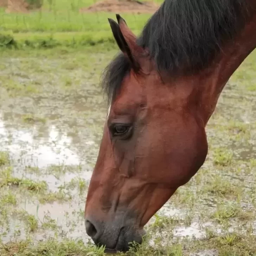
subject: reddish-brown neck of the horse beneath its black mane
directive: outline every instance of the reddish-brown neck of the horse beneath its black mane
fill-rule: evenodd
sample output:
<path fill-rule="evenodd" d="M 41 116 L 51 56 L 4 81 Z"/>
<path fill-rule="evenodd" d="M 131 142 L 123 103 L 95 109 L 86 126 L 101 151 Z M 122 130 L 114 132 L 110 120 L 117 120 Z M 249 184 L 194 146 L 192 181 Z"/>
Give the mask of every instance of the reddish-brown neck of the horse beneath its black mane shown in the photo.
<path fill-rule="evenodd" d="M 256 47 L 256 11 L 234 40 L 222 47 L 213 65 L 198 76 L 200 86 L 199 111 L 206 126 L 218 98 L 231 75 Z M 198 88 L 196 89 L 198 94 Z"/>

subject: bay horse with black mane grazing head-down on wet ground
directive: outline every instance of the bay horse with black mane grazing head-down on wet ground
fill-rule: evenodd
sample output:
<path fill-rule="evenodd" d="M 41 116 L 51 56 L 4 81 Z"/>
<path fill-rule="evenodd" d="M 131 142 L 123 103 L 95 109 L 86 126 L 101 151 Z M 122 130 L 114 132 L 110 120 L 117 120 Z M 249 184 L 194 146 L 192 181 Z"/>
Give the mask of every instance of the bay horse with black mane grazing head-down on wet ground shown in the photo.
<path fill-rule="evenodd" d="M 136 38 L 109 19 L 120 53 L 85 204 L 95 244 L 127 251 L 203 165 L 205 126 L 230 76 L 256 47 L 256 0 L 165 0 Z"/>

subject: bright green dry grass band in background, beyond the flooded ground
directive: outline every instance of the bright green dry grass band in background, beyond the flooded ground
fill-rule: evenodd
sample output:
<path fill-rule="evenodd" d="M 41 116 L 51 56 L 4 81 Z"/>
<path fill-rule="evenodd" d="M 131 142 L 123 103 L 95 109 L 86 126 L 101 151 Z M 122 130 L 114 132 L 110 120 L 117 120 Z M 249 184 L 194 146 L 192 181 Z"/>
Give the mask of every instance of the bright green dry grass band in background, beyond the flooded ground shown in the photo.
<path fill-rule="evenodd" d="M 159 3 L 161 1 L 158 0 Z M 51 4 L 50 4 L 51 3 Z M 0 47 L 51 48 L 56 46 L 114 44 L 108 18 L 115 13 L 84 13 L 82 7 L 93 4 L 91 0 L 44 1 L 40 11 L 30 13 L 5 13 L 0 9 Z M 135 34 L 139 34 L 150 14 L 122 16 Z"/>

